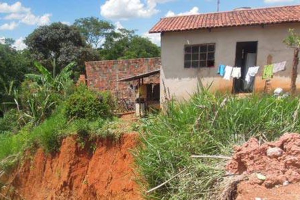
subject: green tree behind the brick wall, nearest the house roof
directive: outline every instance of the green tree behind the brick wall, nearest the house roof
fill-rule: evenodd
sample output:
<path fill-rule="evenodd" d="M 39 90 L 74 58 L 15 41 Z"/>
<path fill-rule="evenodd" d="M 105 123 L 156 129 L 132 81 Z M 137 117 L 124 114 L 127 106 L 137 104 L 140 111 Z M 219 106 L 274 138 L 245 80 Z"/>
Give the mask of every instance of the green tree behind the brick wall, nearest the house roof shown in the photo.
<path fill-rule="evenodd" d="M 122 28 L 107 35 L 100 54 L 104 59 L 158 57 L 160 48 L 148 38 L 136 35 L 133 30 Z"/>

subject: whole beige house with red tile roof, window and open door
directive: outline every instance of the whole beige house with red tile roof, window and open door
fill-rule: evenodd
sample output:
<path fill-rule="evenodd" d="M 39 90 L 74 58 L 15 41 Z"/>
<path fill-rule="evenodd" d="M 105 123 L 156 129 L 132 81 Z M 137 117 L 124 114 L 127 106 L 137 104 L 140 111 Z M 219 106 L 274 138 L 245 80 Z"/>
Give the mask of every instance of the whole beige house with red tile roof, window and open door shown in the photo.
<path fill-rule="evenodd" d="M 263 91 L 266 86 L 290 87 L 293 49 L 282 41 L 288 29 L 300 32 L 300 5 L 236 9 L 216 13 L 161 18 L 150 33 L 161 34 L 161 97 L 167 91 L 188 98 L 198 86 L 234 93 Z M 284 71 L 266 83 L 265 64 L 286 61 Z M 241 77 L 225 80 L 220 64 L 241 67 Z M 249 67 L 260 66 L 251 82 Z M 296 81 L 300 88 L 300 79 Z M 168 95 L 168 94 L 167 94 Z"/>

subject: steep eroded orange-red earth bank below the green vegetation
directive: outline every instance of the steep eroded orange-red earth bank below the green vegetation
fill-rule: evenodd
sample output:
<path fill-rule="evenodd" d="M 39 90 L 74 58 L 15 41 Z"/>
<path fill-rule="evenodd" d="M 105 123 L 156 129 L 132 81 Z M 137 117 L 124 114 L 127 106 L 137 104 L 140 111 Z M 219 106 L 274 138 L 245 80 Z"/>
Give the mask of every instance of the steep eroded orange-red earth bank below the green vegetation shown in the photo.
<path fill-rule="evenodd" d="M 39 148 L 10 176 L 20 194 L 12 199 L 141 199 L 130 153 L 136 143 L 137 134 L 124 134 L 97 141 L 93 153 L 75 137 L 65 138 L 55 155 Z"/>

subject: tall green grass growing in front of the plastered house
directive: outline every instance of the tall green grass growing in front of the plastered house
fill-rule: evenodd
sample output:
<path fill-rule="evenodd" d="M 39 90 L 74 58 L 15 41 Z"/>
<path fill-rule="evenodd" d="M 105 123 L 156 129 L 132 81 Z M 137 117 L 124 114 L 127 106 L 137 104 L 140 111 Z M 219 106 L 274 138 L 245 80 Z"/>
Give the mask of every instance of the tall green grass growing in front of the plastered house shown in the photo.
<path fill-rule="evenodd" d="M 224 100 L 225 99 L 225 100 Z M 273 140 L 284 132 L 300 132 L 299 99 L 268 95 L 238 98 L 197 93 L 190 100 L 170 102 L 165 114 L 143 121 L 142 147 L 136 162 L 146 188 L 184 168 L 187 172 L 148 194 L 154 199 L 208 199 L 224 174 L 224 162 L 193 159 L 191 154 L 231 155 L 232 147 L 250 137 Z"/>

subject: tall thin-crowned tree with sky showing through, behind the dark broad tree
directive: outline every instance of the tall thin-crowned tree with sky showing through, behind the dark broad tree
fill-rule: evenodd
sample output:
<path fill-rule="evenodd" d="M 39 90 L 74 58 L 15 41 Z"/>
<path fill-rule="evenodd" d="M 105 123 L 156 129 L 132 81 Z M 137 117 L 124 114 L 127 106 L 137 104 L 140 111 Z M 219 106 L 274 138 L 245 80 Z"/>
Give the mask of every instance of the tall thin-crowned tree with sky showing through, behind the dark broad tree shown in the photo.
<path fill-rule="evenodd" d="M 79 29 L 88 45 L 98 48 L 106 36 L 114 30 L 114 25 L 96 17 L 76 19 L 74 25 Z"/>

